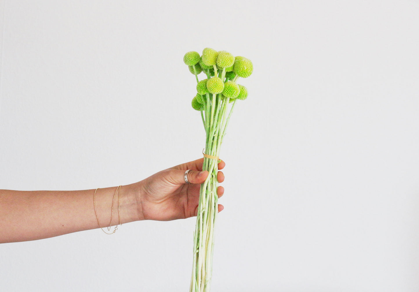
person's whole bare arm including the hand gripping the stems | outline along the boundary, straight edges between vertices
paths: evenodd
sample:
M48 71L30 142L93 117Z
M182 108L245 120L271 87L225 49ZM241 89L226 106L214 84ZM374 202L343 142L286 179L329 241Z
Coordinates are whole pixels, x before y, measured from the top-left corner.
M137 220L175 220L194 216L198 206L199 184L208 172L202 170L203 159L165 169L133 184L121 187L119 210L121 223ZM221 161L218 168L225 163ZM191 184L184 181L186 169ZM201 175L199 176L199 174ZM222 182L224 175L218 174ZM79 191L16 191L0 190L0 222L3 223L0 243L30 241L67 233L109 226L112 199L116 187L96 192L95 210L92 190ZM224 192L218 187L220 197ZM115 196L112 225L119 224L118 195ZM219 205L219 210L222 210ZM106 229L105 229L106 230Z

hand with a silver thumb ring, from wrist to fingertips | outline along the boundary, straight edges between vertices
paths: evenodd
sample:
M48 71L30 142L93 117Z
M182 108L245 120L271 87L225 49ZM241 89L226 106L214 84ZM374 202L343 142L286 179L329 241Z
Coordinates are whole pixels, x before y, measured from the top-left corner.
M196 216L198 212L199 189L208 177L208 172L202 172L204 158L190 161L169 169L162 170L138 182L136 197L139 214L143 220L168 221ZM220 161L218 169L223 169L224 161ZM188 181L184 174L187 169ZM218 182L224 181L224 174L218 172ZM221 197L224 188L217 188L217 195ZM218 205L218 212L224 209Z

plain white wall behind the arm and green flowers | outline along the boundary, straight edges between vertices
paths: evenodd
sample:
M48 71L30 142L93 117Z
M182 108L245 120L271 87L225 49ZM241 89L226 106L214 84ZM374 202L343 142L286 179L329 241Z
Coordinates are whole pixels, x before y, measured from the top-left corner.
M220 155L212 291L419 291L418 1L0 9L0 188L117 186L198 159L183 56L227 50L254 72ZM2 244L0 290L188 291L194 225Z

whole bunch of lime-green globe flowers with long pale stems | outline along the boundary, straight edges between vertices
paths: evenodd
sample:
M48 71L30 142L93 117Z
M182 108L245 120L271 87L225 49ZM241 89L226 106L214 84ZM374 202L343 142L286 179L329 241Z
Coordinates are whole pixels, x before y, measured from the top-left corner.
M192 108L201 112L206 133L202 170L209 172L200 189L189 291L209 292L214 227L218 213L217 173L220 146L237 100L245 100L247 97L246 87L235 81L238 77L250 76L253 64L247 58L234 57L226 51L217 52L211 48L205 48L202 56L196 51L186 53L184 62L197 79L197 95L192 99ZM198 75L202 72L207 78L199 81Z

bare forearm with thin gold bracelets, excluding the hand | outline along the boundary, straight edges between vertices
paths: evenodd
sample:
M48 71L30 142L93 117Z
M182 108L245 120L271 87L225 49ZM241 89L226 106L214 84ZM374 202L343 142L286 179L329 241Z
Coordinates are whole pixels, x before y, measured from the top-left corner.
M109 226L116 187L98 189L95 203L102 227ZM30 241L99 228L93 207L95 190L15 191L0 190L0 243ZM112 225L119 224L116 193ZM121 223L140 220L134 184L121 187ZM107 229L105 228L106 232Z

